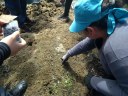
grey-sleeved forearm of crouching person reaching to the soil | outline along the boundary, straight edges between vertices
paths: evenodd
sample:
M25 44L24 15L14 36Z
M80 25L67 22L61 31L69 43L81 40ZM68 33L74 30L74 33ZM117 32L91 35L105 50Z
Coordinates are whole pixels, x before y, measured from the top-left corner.
M74 56L92 50L94 48L95 48L94 40L87 37L78 44L76 44L74 47L69 49L67 54L70 56Z

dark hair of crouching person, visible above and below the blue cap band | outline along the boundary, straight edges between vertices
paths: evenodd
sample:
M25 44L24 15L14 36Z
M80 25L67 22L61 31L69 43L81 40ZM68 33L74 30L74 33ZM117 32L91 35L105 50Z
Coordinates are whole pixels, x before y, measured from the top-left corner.
M104 2L106 3L106 0L104 0L103 3ZM117 1L115 1L115 4L107 4L106 6L102 4L102 11L107 10L108 8L109 9L120 8L122 6L123 6L122 1L117 0ZM106 15L102 19L91 23L90 26L97 27L101 30L107 30L107 18L108 18L108 16Z

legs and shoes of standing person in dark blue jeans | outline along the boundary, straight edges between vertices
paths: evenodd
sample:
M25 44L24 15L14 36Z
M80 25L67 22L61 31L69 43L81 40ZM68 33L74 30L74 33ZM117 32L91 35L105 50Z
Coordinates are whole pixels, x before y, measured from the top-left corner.
M27 25L33 25L34 20L30 20L26 14L27 0L4 0L5 6L9 10L11 15L18 16L17 20L19 27L25 31L30 32L30 28Z

